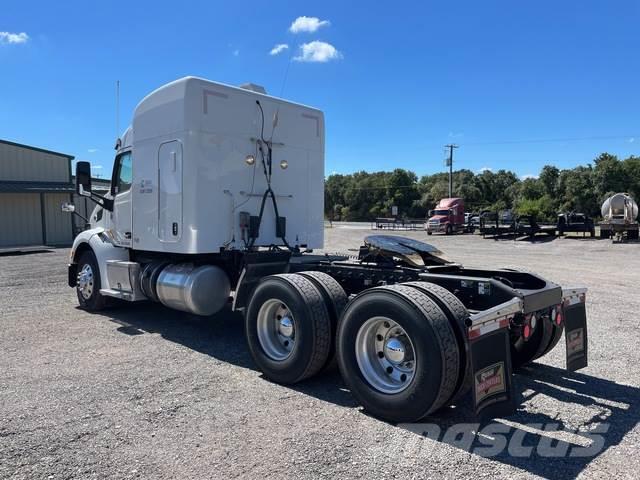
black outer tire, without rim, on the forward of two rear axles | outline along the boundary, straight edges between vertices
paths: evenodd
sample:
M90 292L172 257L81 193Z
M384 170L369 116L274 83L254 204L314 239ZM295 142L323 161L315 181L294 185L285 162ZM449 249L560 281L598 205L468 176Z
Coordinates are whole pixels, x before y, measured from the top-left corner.
M270 357L258 336L258 314L265 302L277 300L295 321L295 343L281 360ZM283 384L297 383L318 373L331 349L331 320L327 305L311 280L296 274L263 278L254 290L245 315L249 351L264 375Z

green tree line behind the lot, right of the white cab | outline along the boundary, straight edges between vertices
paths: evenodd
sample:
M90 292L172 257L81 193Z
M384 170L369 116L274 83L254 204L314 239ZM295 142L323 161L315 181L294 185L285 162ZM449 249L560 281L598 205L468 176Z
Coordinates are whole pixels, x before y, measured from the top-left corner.
M624 160L602 153L591 164L572 169L553 165L536 178L519 178L514 172L471 170L453 172L453 196L465 201L466 211L514 210L553 221L559 212L600 214L611 194L627 192L640 200L640 157ZM392 172L334 174L325 180L325 215L331 220L364 221L398 216L425 218L441 198L448 197L449 174L418 176L397 168Z

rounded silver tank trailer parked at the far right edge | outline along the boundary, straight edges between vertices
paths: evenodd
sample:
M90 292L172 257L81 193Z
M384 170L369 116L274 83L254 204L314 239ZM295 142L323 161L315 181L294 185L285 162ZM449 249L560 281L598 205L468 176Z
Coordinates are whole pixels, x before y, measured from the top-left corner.
M600 212L600 238L638 239L638 204L631 195L616 193L610 196L602 203Z

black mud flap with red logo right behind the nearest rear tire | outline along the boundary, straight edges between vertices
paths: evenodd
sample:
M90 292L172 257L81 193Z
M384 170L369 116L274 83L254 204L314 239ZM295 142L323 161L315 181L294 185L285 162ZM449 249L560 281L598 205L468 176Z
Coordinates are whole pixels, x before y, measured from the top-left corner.
M514 298L469 319L471 394L475 413L481 419L515 412L509 324L521 310L522 302Z

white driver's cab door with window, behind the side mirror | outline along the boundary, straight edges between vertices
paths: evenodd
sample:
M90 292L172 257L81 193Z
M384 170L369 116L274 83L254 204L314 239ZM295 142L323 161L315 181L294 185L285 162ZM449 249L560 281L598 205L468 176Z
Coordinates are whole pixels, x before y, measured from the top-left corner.
M113 238L117 245L131 246L131 182L132 182L131 152L121 153L116 157L111 179L111 194L113 195Z

